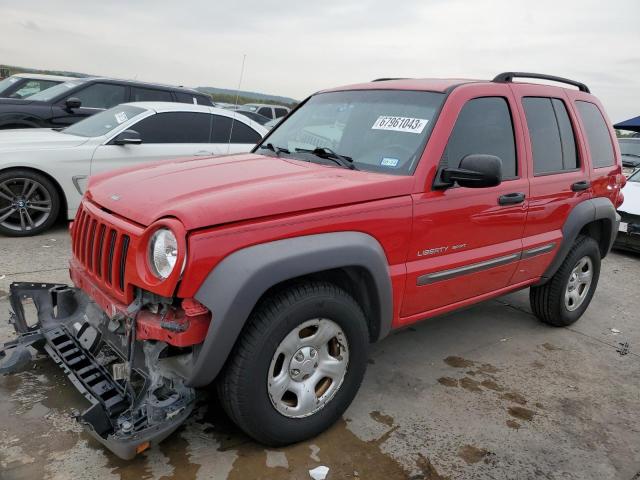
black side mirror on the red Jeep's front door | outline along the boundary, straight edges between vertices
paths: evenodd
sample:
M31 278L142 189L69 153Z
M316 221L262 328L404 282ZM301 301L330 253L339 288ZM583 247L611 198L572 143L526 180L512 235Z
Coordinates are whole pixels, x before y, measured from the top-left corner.
M442 182L461 187L495 187L502 181L502 160L494 155L467 155L459 168L445 168L440 174Z

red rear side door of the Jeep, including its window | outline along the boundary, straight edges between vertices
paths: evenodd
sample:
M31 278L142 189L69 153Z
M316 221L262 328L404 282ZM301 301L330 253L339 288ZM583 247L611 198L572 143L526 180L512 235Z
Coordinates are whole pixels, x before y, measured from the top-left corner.
M531 190L514 282L541 276L560 248L569 212L592 196L578 121L564 89L512 84L525 125Z

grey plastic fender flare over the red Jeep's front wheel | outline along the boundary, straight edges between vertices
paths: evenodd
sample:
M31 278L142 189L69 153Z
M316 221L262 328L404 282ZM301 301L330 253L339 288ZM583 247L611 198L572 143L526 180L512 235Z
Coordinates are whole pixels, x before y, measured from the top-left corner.
M333 232L277 240L238 250L207 276L195 298L213 318L188 380L204 386L218 375L251 311L269 288L326 270L361 267L375 285L382 338L391 330L393 292L387 257L380 243L361 232Z

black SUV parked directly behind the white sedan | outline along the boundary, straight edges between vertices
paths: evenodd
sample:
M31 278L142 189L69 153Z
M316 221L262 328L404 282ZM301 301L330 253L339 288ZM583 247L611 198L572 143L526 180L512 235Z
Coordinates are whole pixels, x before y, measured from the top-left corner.
M0 129L66 127L126 102L213 105L211 97L188 88L108 78L79 78L24 100L0 98Z

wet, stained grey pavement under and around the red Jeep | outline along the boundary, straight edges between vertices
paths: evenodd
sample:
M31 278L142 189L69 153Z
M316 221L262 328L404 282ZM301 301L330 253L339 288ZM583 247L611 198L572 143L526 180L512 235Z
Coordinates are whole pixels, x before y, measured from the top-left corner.
M0 341L12 281L67 282L64 227L0 238ZM619 330L614 333L611 329ZM630 351L621 355L620 343ZM73 419L85 400L51 360L0 377L0 479L624 479L640 472L640 256L615 252L567 329L540 324L528 292L410 327L373 346L343 419L269 449L203 391L159 448L125 462Z

